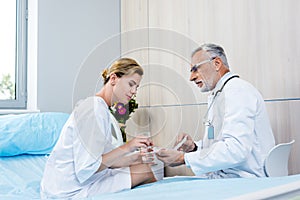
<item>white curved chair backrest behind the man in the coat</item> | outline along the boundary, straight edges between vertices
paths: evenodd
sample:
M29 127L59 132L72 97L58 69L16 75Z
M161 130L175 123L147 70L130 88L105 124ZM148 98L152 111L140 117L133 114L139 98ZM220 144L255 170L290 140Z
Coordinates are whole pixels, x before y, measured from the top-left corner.
M274 146L268 153L264 170L268 177L287 176L291 147L295 140Z

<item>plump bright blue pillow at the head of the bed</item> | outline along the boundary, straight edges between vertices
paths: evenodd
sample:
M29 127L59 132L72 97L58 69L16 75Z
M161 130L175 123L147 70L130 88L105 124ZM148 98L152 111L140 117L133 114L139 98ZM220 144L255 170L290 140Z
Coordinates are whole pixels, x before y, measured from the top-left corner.
M0 156L50 153L69 114L0 115Z

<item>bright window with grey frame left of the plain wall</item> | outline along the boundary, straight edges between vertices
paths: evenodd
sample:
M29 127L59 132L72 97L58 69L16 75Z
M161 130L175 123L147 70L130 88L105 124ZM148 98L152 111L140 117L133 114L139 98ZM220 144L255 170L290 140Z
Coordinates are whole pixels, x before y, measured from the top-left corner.
M27 0L0 1L0 109L27 102Z

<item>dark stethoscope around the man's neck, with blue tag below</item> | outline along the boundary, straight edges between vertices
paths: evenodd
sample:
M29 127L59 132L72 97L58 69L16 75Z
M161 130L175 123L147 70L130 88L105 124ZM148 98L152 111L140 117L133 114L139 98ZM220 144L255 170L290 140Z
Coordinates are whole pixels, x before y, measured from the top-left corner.
M209 107L203 117L203 124L207 127L207 139L209 139L209 140L214 139L214 126L212 125L212 121L207 119L208 112L210 111L212 105L214 104L217 95L223 91L223 88L228 83L228 81L230 81L233 78L239 78L239 76L238 75L231 76L224 82L222 87L216 91L216 93L214 94L213 99L211 101L211 104L209 105Z

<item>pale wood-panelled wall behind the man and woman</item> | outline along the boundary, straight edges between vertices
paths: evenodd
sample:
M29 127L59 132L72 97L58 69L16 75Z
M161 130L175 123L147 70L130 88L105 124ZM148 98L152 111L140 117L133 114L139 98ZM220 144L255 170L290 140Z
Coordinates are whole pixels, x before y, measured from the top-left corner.
M146 74L137 99L148 115L141 112L137 116L149 122L149 130L157 130L157 122L165 118L164 128L156 134L158 144L165 145L178 132L171 124L193 131L190 121L176 117L179 108L184 108L187 119L203 117L206 94L188 81L186 66L195 44L213 42L224 47L231 70L257 87L267 100L276 142L296 140L289 170L290 174L300 173L300 123L296 121L300 113L300 1L126 0L121 4L122 31L148 29L138 36L123 37L122 52L134 49L139 54L135 45L143 47L138 57ZM152 37L153 29L162 34ZM166 38L163 33L167 31L173 33ZM184 36L187 44L178 35ZM145 41L148 49L141 44ZM168 42L171 45L165 48ZM152 48L160 45L162 48ZM128 129L134 130L130 123ZM190 175L183 167L169 170L169 175L176 171Z

